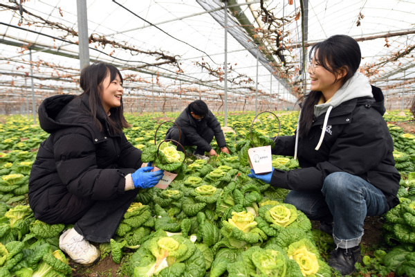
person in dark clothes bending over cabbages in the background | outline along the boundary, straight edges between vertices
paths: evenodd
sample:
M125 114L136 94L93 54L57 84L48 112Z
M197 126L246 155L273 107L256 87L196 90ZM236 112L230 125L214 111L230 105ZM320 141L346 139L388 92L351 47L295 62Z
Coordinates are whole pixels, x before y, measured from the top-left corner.
M210 146L213 136L219 148L221 148L221 152L229 154L221 124L202 100L191 102L174 123L180 127L180 141L178 141L179 131L176 125L167 130L165 139L173 139L183 146L196 145L196 151L193 154L197 159L208 160L209 158L204 156L205 152L208 152L210 156L217 155L216 151ZM183 151L180 146L177 149Z

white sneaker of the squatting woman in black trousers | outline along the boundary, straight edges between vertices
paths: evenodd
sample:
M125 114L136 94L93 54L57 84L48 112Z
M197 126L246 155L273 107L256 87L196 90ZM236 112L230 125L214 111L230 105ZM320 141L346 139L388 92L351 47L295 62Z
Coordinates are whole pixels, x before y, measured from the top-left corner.
M82 265L93 264L100 258L100 251L73 228L64 231L59 237L59 248L74 262Z

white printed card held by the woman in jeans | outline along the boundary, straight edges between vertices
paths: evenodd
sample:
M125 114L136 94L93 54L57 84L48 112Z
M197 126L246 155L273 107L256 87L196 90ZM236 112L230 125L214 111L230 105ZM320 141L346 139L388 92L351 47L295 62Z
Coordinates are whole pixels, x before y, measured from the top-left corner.
M271 145L248 149L248 161L255 174L266 174L273 171Z

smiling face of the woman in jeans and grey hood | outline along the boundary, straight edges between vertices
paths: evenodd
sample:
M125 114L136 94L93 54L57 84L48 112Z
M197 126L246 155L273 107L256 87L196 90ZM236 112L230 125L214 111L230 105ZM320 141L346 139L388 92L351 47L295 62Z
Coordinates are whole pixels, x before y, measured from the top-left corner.
M334 93L342 87L341 78L344 76L345 72L341 72L337 76L334 73L331 73L325 69L320 61L318 60L318 49L311 60L312 64L315 64L315 71L311 68L308 68L308 73L311 78L311 90L312 91L321 91L324 98L329 100L333 97Z

